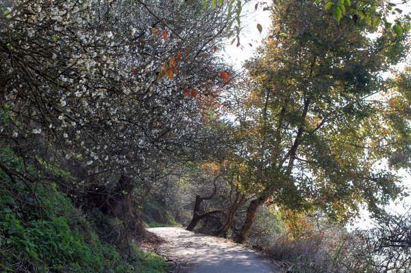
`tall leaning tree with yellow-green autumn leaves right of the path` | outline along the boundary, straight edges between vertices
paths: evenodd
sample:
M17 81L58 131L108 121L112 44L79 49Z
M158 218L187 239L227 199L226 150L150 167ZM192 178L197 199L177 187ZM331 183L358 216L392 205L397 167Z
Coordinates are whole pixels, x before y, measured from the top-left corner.
M408 162L409 96L383 75L406 57L408 34L352 16L336 22L329 12L312 1L276 1L269 38L246 64L234 112L243 183L258 197L236 242L245 242L268 198L346 221L363 204L377 211L401 194L400 178L378 165Z

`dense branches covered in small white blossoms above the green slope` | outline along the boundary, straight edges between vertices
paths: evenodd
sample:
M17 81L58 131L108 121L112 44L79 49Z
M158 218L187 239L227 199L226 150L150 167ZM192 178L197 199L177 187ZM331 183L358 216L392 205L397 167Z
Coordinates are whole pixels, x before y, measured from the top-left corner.
M223 69L218 56L203 51L197 55L200 65L185 64L183 58L195 57L195 49L211 48L221 40L226 15L220 9L197 14L188 5L160 1L164 10L151 8L173 15L168 20L181 38L138 1L112 1L107 12L108 6L99 1L45 5L13 0L21 13L0 21L1 43L12 43L12 53L24 57L17 63L12 54L0 52L0 83L7 83L0 84L2 98L21 112L16 118L21 124L8 136L17 138L18 131L33 143L49 145L62 159L69 155L67 160L93 164L89 168L129 172L131 177L157 171L154 161L171 164L169 157L184 151L203 125L199 100L184 96L184 90L212 90L218 81L199 75L214 77ZM115 24L108 23L114 18ZM222 28L220 36L204 39L217 27ZM192 39L190 29L198 29L198 40ZM204 45L205 40L209 44ZM184 52L188 47L192 52ZM178 51L184 56L175 59L177 70L169 81L160 68Z

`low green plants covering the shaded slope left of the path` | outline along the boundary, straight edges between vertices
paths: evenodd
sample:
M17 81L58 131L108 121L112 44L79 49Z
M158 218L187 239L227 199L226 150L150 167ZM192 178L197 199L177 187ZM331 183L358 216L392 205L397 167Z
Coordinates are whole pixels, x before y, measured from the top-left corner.
M1 148L8 170L22 168L10 148ZM54 187L10 178L0 170L0 271L164 272L166 261L135 244L134 260L103 243L90 224Z

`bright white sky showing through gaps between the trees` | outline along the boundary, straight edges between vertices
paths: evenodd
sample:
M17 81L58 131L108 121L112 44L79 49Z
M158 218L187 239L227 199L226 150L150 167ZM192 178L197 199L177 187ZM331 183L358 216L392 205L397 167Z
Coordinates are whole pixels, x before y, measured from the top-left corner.
M397 2L400 2L399 0ZM242 10L246 14L241 20L242 32L240 36L240 43L242 47L236 47L236 42L233 44L227 44L225 47L225 56L230 63L234 65L234 68L241 68L242 63L245 60L253 56L258 46L262 44L262 40L268 34L268 29L271 24L270 11L264 11L262 5L259 3L258 9L255 9L255 5L258 1L250 1ZM411 3L406 5L397 5L397 8L403 10L403 14L411 13ZM262 33L257 29L257 24L262 25ZM251 46L251 45L252 46ZM408 58L408 65L411 65L411 58ZM405 63L400 64L399 67L403 67ZM408 192L411 195L411 175L406 170L400 170L397 174L403 177L403 185L408 187ZM393 213L405 213L406 208L404 206L411 206L411 196L404 198L402 201L397 200L392 202L385 209ZM366 229L372 226L372 220L369 218L369 213L365 209L362 210L361 218L357 219L352 228Z

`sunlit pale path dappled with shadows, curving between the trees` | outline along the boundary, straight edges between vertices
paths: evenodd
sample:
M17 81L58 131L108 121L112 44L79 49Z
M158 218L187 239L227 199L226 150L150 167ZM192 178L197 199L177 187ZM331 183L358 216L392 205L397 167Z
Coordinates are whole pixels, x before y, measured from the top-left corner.
M148 229L166 240L160 254L181 263L175 272L191 273L272 273L269 259L227 239L192 233L182 228ZM278 271L279 272L279 271Z

